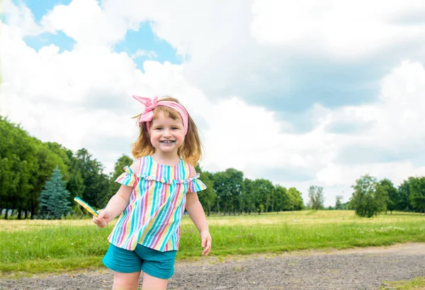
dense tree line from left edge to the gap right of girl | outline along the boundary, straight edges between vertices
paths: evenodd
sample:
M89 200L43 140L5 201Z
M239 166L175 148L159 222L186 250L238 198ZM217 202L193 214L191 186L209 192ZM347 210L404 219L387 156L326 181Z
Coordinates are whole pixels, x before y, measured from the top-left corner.
M74 152L55 142L42 142L0 116L0 212L4 219L10 214L17 214L18 219L81 214L74 197L103 208L120 187L115 179L132 162L123 155L115 162L113 173L105 174L103 165L86 149ZM196 169L208 187L199 193L208 214L304 209L301 192L294 187L250 180L233 168L217 173Z

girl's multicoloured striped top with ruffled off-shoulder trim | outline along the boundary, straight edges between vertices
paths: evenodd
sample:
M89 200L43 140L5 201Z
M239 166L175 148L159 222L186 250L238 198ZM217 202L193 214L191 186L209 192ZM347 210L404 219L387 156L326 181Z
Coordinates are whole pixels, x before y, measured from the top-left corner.
M178 250L186 192L207 188L198 179L199 173L189 178L190 167L185 161L166 166L152 156L140 158L139 173L128 166L124 171L115 182L135 188L109 242L126 250L135 250L138 243L162 252Z

